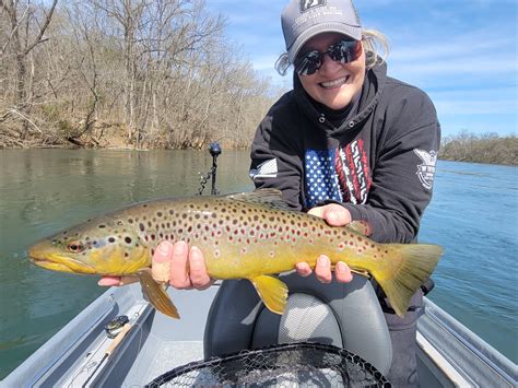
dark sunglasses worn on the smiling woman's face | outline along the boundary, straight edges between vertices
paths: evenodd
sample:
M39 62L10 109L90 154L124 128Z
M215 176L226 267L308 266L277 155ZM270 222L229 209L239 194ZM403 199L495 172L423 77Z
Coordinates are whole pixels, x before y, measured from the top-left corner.
M313 50L304 54L295 59L293 66L299 75L311 75L322 66L323 56L327 54L333 61L342 64L350 63L360 57L358 40L340 40L329 46L329 48L320 52Z

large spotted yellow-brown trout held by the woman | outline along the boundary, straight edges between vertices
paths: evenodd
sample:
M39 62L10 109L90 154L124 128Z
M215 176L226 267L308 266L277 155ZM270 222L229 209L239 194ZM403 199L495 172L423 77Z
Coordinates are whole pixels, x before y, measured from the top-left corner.
M375 243L361 222L329 226L320 217L291 210L281 191L258 189L136 203L44 238L28 248L28 256L52 271L134 274L158 311L179 318L163 284L151 277L152 256L162 240L196 245L211 278L249 280L275 314L284 311L289 295L275 274L303 261L315 268L317 258L327 255L331 266L344 261L352 271L373 277L403 316L443 255L437 245Z

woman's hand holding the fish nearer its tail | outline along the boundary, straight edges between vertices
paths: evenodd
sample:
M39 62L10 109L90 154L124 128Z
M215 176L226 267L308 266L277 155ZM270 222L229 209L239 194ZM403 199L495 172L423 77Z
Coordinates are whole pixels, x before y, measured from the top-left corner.
M351 213L338 203L329 203L323 207L313 208L307 213L322 217L331 226L345 226L351 223ZM309 277L313 272L307 262L299 262L295 268L301 277ZM331 283L331 260L329 260L327 256L321 255L317 259L315 275L322 283ZM334 277L337 278L337 281L341 283L349 283L353 280L351 269L343 261L337 262L334 267Z

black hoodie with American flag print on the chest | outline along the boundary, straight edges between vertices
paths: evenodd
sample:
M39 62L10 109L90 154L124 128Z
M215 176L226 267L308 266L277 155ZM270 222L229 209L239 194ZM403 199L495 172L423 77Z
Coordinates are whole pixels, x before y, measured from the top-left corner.
M440 126L428 96L367 71L362 93L345 114L328 117L294 77L259 125L250 177L276 188L297 210L330 201L367 221L379 243L410 243L432 198Z

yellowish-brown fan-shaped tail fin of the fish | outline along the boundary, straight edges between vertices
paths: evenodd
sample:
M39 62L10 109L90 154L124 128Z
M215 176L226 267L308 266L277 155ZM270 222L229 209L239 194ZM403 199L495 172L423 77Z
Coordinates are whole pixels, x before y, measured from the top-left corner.
M437 266L443 248L425 244L387 244L380 247L389 252L389 266L372 272L396 314L402 317L412 296Z

